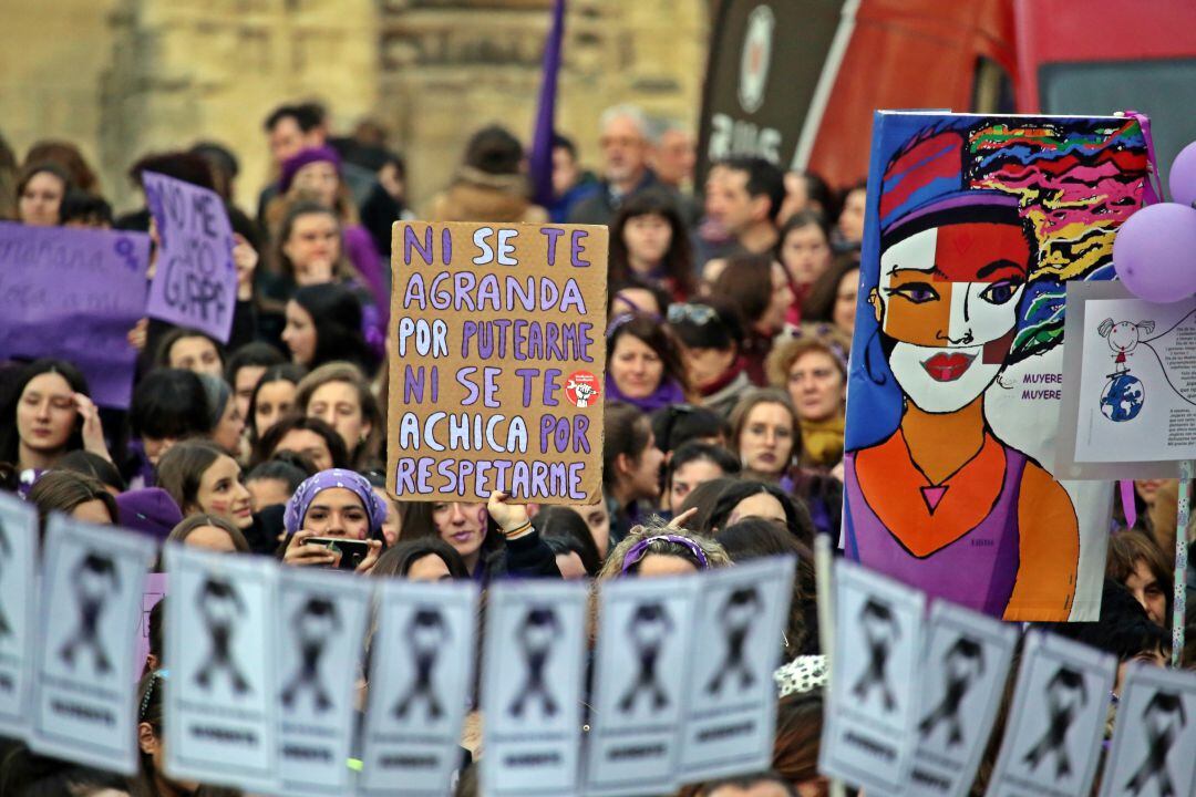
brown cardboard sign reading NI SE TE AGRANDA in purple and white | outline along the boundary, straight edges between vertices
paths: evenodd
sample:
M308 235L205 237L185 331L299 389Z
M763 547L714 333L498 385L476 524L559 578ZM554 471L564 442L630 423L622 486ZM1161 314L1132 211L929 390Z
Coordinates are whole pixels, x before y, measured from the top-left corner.
M392 268L390 491L596 503L606 228L397 222Z

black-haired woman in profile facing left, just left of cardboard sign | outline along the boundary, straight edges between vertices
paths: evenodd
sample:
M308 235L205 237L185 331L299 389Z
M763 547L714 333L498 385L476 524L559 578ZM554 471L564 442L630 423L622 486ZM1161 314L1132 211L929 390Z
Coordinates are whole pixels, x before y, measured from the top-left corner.
M373 375L378 356L361 333L361 304L348 288L303 286L287 302L286 318L282 342L295 364L313 369L344 360Z

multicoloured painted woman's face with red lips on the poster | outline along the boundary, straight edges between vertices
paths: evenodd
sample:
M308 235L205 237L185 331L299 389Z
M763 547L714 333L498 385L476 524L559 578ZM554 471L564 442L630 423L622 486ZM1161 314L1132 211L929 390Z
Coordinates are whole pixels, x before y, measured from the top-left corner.
M927 229L880 256L871 300L895 342L889 367L915 406L954 412L993 384L1009 354L1030 244L1021 228Z

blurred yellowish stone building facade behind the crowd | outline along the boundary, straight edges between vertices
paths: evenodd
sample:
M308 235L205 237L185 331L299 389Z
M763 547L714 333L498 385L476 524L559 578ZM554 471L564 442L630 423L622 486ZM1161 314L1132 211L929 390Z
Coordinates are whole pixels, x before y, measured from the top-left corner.
M469 134L530 135L551 0L0 0L0 131L18 151L80 142L118 208L140 155L201 139L242 160L240 203L269 179L261 124L317 99L337 131L373 117L409 155L415 207ZM696 124L706 0L570 0L557 125L597 160L614 103Z

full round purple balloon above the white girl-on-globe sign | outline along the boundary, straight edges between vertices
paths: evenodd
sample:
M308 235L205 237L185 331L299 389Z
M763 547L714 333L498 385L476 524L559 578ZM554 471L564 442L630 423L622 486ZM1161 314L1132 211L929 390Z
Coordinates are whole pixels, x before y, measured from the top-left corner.
M1158 304L1196 293L1196 209L1173 202L1142 208L1113 238L1113 268L1135 296Z

